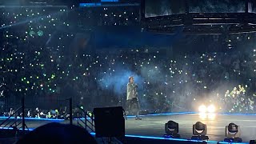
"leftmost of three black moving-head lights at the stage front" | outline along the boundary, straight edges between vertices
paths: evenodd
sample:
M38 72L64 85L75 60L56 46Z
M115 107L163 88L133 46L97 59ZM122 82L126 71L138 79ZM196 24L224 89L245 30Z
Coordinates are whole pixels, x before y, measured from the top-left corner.
M166 134L165 138L181 138L178 134L178 123L174 121L168 121L165 125Z

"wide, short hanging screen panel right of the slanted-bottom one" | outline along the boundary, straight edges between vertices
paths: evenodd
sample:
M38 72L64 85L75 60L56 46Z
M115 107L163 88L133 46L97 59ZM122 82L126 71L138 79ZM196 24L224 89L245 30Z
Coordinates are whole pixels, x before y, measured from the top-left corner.
M244 13L246 0L188 0L190 13Z

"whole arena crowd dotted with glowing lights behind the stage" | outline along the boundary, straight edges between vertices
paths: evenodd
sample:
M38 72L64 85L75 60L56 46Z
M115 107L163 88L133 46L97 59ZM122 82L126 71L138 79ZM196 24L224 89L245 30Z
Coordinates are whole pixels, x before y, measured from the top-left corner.
M115 14L114 7L101 8L106 11L104 25L138 21L132 9L116 9ZM125 106L130 74L138 82L142 110L194 111L193 105L204 98L218 104L220 111L254 113L253 47L193 54L145 47L88 52L70 46L75 33L66 31L71 25L66 8L49 9L0 9L2 115L11 114L22 96L26 115L33 118L66 118L66 110L60 107L67 106L64 101L70 97L74 107L85 110ZM82 45L90 47L86 42Z

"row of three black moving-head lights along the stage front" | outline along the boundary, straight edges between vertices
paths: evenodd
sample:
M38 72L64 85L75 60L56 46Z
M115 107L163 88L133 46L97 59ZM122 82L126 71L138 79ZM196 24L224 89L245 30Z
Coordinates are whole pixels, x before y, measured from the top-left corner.
M166 134L164 135L165 138L181 138L180 134L178 134L178 123L174 121L169 121L165 125ZM208 141L209 137L207 134L207 126L202 122L196 122L193 125L193 136L191 137L192 140L198 141ZM230 123L225 128L226 138L224 142L242 142L241 130L240 126ZM251 141L252 142L252 141ZM251 143L250 142L250 143Z

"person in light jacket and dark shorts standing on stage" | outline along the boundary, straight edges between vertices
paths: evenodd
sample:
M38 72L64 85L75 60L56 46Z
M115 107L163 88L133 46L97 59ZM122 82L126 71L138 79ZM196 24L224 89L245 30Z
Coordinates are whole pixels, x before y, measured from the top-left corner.
M127 84L127 98L126 98L126 109L131 112L134 111L136 113L136 120L142 120L142 118L138 117L138 85L134 83L134 77L129 77L129 82Z

